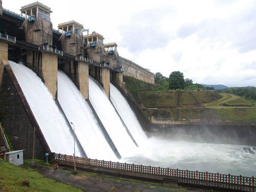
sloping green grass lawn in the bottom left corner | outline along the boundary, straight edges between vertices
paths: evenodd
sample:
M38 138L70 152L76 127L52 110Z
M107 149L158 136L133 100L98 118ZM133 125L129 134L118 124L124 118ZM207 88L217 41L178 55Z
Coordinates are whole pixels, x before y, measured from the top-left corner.
M30 187L23 186L23 181L29 180ZM0 191L82 191L70 185L60 183L53 179L44 178L31 168L15 166L0 159Z

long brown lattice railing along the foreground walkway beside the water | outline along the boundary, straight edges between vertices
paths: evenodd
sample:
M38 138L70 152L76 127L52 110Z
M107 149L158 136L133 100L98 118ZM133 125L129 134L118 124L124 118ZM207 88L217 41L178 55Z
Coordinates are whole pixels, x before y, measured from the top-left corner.
M73 165L74 157L69 155L55 154L53 153L54 160L65 162L65 164ZM128 163L119 163L112 161L104 161L83 157L75 157L77 166L80 165L91 165L109 169L124 170L125 172L134 172L141 173L146 175L170 177L170 178L181 178L181 179L190 179L197 181L207 181L215 182L221 184L234 184L244 187L253 187L255 188L256 179L254 177L244 177L244 176L234 176L226 175L219 173L208 173L208 172L198 172L190 170L180 170L172 168L161 168L154 166L144 166Z

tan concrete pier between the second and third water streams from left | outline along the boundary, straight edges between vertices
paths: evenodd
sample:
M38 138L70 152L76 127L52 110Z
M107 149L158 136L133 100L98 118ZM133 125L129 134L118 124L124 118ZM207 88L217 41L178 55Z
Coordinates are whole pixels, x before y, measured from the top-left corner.
M84 99L88 99L89 92L89 63L78 61L77 66L77 87Z

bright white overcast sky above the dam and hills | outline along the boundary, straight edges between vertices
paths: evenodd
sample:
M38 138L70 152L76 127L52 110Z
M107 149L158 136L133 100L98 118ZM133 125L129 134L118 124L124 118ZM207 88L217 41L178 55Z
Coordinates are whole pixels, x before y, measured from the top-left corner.
M20 13L31 0L2 0ZM256 1L53 1L53 28L76 20L151 72L205 84L256 86Z

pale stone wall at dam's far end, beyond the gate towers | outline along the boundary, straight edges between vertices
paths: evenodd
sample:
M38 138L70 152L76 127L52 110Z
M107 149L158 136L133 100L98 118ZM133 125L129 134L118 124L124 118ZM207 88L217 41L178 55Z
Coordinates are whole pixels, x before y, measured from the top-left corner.
M121 58L123 75L136 78L138 80L154 84L155 83L155 74L140 67L135 62L132 62L123 57Z

